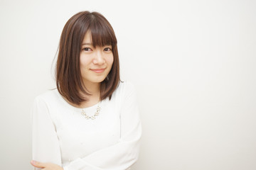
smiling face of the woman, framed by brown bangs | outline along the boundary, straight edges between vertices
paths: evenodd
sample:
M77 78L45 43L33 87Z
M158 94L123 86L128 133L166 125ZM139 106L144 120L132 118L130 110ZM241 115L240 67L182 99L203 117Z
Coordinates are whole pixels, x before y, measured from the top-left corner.
M80 52L80 69L85 86L102 82L109 74L113 60L112 45L93 47L91 34L88 31L82 41Z

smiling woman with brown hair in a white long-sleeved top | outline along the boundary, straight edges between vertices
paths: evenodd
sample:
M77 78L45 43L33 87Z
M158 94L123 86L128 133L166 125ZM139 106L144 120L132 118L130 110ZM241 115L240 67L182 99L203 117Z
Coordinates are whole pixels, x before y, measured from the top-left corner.
M33 105L33 161L38 169L129 169L141 123L134 87L119 80L117 39L97 12L71 17L60 37L57 89Z

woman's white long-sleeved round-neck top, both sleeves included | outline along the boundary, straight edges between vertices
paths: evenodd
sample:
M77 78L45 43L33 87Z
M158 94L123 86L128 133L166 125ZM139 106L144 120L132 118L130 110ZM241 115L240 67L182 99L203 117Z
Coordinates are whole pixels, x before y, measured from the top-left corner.
M134 86L120 82L111 100L84 108L82 116L58 93L36 97L32 110L33 160L51 162L65 170L124 170L139 156L142 135Z

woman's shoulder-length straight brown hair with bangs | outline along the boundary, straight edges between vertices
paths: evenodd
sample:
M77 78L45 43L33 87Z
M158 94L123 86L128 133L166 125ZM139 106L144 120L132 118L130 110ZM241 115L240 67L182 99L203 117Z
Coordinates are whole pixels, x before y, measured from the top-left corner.
M82 82L80 71L82 40L87 31L91 33L94 47L112 45L114 61L110 73L100 83L100 100L107 97L111 99L120 80L117 38L110 23L97 12L83 11L75 14L65 24L60 36L55 78L59 93L70 103L77 105L82 101L87 101L82 94L90 95L90 91L87 91Z

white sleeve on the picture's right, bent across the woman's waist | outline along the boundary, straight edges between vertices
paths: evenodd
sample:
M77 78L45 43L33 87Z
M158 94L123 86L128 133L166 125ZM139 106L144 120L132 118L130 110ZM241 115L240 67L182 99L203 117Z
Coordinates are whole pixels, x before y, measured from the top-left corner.
M64 170L125 170L137 161L142 126L134 87L132 84L128 85L120 113L121 137L119 142L93 152L87 157L75 159L68 166L64 166Z

